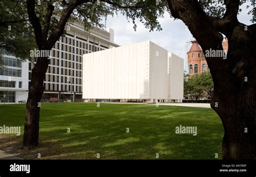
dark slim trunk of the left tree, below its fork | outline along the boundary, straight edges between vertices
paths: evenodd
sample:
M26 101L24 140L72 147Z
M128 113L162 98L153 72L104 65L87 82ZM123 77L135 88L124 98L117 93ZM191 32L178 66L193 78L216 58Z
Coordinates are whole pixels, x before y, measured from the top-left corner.
M38 146L39 114L44 91L44 77L48 64L48 58L38 58L35 67L32 69L29 97L26 102L23 149L31 149Z

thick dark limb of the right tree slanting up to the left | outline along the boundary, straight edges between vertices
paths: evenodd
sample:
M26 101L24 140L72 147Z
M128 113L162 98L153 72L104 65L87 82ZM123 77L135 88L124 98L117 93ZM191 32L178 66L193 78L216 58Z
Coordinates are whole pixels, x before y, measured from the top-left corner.
M223 36L215 28L215 25L219 29L224 28L223 24L226 23L225 21L218 18L209 18L198 1L168 0L167 2L172 16L181 19L188 26L188 29L197 39L204 52L210 51L210 49L223 51ZM221 31L224 31L224 29ZM213 79L221 78L221 74L226 72L226 60L221 57L206 57L206 60L211 73L215 73ZM219 70L222 72L219 72Z

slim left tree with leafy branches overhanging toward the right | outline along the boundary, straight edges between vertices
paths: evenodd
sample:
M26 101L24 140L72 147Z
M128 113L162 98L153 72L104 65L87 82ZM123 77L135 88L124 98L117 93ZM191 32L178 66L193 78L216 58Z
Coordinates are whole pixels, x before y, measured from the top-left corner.
M157 21L167 9L166 1L107 1L107 0L26 0L29 22L32 25L39 50L51 50L57 40L65 33L65 25L81 21L86 31L93 26L102 28L101 19L118 11L131 19L136 29L135 19L144 23L150 31L161 30ZM31 85L26 103L23 148L38 146L40 102L43 94L44 76L49 60L37 57L31 71Z

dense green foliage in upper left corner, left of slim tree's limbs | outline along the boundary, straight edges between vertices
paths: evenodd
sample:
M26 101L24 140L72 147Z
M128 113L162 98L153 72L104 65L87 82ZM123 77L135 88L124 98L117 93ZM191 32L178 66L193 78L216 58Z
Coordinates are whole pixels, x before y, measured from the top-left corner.
M30 50L36 44L26 13L26 3L4 0L0 1L0 7L0 48L19 59L32 59Z

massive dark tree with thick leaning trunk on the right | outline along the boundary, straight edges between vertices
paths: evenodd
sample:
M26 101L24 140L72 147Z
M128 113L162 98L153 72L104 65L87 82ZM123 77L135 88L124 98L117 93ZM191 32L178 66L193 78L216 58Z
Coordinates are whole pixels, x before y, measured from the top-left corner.
M214 83L211 107L225 131L223 159L256 158L256 24L238 21L244 2L167 0L172 16L188 26L204 53L223 52L223 35L228 38L227 58L206 56ZM254 23L255 2L251 5Z

